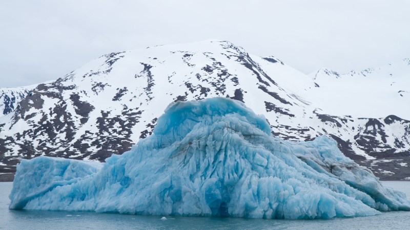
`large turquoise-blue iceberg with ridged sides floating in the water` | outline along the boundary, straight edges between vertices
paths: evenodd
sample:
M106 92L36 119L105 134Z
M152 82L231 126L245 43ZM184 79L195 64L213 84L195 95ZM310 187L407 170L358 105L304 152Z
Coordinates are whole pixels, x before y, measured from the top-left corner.
M271 131L231 99L172 103L151 136L101 166L22 160L9 208L285 219L410 210L333 139L289 142Z

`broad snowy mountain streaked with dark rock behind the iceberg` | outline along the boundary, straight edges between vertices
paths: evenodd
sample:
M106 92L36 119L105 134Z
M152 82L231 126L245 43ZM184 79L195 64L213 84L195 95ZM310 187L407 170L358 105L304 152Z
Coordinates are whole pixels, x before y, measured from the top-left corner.
M170 102L228 97L263 114L273 133L285 140L327 134L346 156L373 167L377 176L410 177L403 170L410 163L410 122L397 115L330 115L328 107L317 105L320 97L331 97L320 91L326 89L322 77L318 73L312 79L275 57L250 55L228 41L111 53L37 85L1 117L0 162L10 166L39 155L104 160L150 135ZM408 84L401 86L409 90ZM410 97L399 97L402 101L390 103L405 107Z

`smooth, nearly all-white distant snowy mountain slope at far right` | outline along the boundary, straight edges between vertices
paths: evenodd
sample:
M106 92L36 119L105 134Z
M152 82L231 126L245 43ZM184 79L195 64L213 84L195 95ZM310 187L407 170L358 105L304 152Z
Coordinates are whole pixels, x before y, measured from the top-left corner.
M338 74L321 68L310 75L317 87L301 92L315 106L333 115L410 120L410 59L364 71ZM326 95L324 98L323 95Z

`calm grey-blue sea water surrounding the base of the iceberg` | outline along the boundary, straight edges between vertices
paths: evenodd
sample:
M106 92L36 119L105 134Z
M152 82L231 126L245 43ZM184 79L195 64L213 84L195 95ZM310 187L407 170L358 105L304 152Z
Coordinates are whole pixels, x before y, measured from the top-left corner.
M410 197L410 182L384 181ZM137 216L86 212L9 210L12 182L0 182L0 229L409 229L410 212L330 220L264 220Z

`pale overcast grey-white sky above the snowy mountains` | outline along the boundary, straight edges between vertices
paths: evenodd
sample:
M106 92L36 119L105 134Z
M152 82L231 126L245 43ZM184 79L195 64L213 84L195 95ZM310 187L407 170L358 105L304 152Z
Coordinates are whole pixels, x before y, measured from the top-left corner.
M299 71L410 58L410 1L1 1L0 87L57 79L103 54L229 40Z

